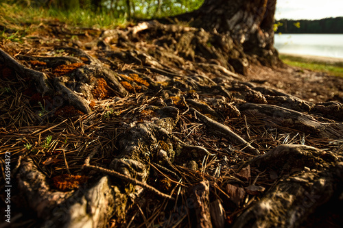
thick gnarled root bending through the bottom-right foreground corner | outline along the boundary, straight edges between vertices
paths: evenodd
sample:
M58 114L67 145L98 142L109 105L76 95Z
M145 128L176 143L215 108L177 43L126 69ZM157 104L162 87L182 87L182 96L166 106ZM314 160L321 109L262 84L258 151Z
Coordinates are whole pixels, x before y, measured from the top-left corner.
M256 157L251 166L276 170L282 178L234 227L298 227L342 191L343 164L335 160L333 154L303 145L279 146Z

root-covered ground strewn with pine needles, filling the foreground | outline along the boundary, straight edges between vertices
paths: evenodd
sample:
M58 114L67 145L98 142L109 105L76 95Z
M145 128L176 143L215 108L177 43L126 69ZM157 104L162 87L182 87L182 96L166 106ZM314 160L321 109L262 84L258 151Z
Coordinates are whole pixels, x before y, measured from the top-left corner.
M340 200L343 78L156 22L0 42L14 227L311 227Z

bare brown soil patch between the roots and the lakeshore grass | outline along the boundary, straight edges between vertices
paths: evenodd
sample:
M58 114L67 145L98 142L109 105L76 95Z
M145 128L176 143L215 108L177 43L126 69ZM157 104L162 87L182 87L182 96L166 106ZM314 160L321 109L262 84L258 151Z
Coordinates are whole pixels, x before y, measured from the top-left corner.
M268 68L251 66L244 81L292 94L305 101L325 102L343 99L343 78L294 66Z

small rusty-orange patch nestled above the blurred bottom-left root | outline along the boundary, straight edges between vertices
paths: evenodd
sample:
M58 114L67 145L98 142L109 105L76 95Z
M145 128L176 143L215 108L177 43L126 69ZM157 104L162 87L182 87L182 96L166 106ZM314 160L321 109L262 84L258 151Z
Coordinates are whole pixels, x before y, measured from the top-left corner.
M60 191L69 191L78 188L83 183L86 183L89 177L80 175L63 174L52 178L52 183L55 188Z

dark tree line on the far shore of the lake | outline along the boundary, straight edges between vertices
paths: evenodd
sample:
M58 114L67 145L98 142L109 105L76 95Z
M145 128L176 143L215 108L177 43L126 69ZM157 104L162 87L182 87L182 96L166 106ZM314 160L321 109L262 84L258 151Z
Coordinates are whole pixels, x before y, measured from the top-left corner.
M276 25L276 32L282 34L343 34L342 16L314 21L281 19Z

